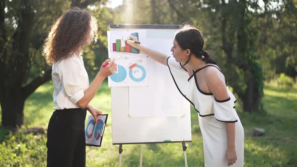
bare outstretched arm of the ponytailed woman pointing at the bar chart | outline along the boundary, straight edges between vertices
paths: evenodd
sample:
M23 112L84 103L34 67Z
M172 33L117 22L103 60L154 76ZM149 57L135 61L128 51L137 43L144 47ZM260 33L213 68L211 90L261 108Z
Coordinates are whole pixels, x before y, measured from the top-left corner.
M132 35L130 35L129 39L133 40L133 41L138 41L137 38L132 36ZM141 52L143 52L144 54L150 56L151 58L158 61L159 63L164 64L164 65L167 66L167 58L168 58L167 55L165 55L165 54L163 54L161 52L158 52L156 50L146 48L146 47L144 47L143 45L140 45L140 44L135 44L135 43L132 43L132 42L129 42L129 41L127 41L127 43L129 45L131 45L132 47L134 47L136 49L139 49Z

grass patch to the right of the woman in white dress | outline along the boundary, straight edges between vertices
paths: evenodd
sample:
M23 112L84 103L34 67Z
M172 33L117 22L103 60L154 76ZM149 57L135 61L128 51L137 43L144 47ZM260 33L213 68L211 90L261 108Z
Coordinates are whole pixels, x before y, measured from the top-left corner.
M240 113L245 128L245 166L297 166L297 89L266 84L265 113ZM252 128L266 130L252 137Z

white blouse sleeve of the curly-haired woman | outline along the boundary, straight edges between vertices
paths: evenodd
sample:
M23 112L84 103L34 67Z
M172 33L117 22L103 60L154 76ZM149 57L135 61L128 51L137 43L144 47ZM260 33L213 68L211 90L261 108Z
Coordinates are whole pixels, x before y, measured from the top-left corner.
M60 63L59 76L64 86L67 96L77 104L84 97L84 82L80 74L82 64L75 58L67 58Z

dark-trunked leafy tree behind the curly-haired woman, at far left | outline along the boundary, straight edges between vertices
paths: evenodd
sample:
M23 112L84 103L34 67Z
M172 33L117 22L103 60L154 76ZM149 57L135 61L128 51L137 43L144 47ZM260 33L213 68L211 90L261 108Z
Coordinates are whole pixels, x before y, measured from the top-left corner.
M3 79L0 82L0 103L3 126L16 128L22 125L25 100L51 79L51 68L41 56L43 39L50 26L69 7L87 8L95 2L97 5L100 3L95 0L0 2L0 77Z

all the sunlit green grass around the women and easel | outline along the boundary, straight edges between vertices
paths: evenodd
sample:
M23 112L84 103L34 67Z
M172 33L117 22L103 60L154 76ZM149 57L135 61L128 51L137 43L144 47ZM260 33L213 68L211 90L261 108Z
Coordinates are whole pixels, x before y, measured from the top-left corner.
M0 166L45 166L46 135L25 134L27 128L47 128L53 112L52 83L39 87L25 103L25 123L15 134L0 126ZM297 89L266 84L263 113L243 113L237 106L245 129L245 166L297 166ZM102 147L87 147L87 166L117 166L118 145L112 145L110 89L104 82L93 106L110 114ZM240 103L239 103L240 104ZM189 166L203 166L202 136L197 113L191 110L192 142L187 143ZM254 127L266 133L253 137ZM184 166L181 143L142 144L143 166ZM123 145L122 166L139 166L140 144Z

